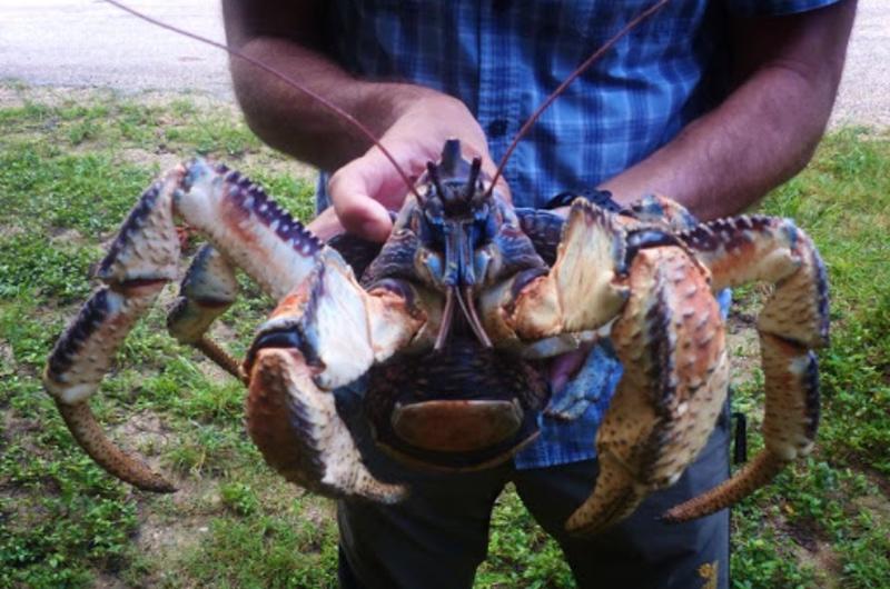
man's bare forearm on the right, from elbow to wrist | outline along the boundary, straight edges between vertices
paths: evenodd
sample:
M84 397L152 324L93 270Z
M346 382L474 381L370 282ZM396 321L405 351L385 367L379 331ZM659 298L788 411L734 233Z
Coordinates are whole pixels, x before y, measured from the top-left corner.
M702 219L738 213L807 163L830 111L831 100L813 100L810 84L795 73L758 72L716 110L603 188L624 202L663 193Z

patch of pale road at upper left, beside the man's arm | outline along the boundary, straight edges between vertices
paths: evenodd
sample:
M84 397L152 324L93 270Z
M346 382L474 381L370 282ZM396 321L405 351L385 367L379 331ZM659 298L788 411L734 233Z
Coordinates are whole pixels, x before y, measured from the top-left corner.
M219 0L125 0L222 40ZM99 0L0 0L0 79L123 91L198 90L231 98L219 49L158 29Z

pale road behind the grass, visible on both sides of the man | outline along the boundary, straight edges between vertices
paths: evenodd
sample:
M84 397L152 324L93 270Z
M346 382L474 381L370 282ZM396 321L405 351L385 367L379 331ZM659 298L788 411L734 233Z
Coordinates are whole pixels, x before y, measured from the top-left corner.
M222 39L219 0L129 0ZM198 90L231 99L227 58L99 0L0 0L0 79L125 91ZM890 0L860 0L835 122L890 127Z

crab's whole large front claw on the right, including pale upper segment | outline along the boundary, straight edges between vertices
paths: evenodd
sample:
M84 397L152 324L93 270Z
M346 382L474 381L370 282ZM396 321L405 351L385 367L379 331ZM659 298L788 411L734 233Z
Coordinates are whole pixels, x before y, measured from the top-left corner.
M617 318L611 333L626 368L597 438L596 488L570 519L571 531L611 526L675 481L725 399L719 307L706 271L679 246L629 238L625 223L575 201L548 274L502 288L501 312L485 312L493 330L521 339L599 329Z

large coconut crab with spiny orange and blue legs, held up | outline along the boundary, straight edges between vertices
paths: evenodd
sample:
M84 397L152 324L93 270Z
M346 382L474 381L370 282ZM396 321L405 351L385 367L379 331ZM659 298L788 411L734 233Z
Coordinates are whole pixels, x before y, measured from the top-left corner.
M791 221L694 223L655 197L619 212L578 198L563 221L513 209L490 182L479 160L464 160L459 142L448 141L388 241L363 253L354 239L320 242L225 166L178 166L123 222L99 268L106 286L49 358L47 390L106 470L141 489L172 490L105 437L88 398L134 322L177 277L178 216L211 246L186 273L169 331L245 381L250 436L271 467L309 490L383 502L407 491L363 465L333 389L370 371L366 407L379 445L414 465L484 468L535 435L547 389L528 360L599 332L633 369L597 435L600 478L567 527L611 526L674 482L705 443L729 372L713 292L752 280L775 284L758 320L765 449L665 517L726 507L810 451L819 418L812 350L828 339L828 297L818 252ZM277 301L240 365L206 336L235 301L236 268Z

